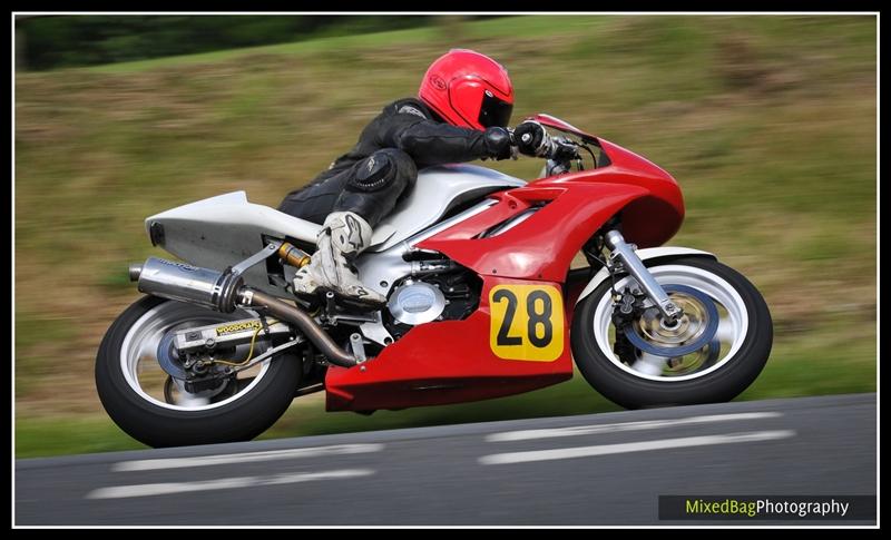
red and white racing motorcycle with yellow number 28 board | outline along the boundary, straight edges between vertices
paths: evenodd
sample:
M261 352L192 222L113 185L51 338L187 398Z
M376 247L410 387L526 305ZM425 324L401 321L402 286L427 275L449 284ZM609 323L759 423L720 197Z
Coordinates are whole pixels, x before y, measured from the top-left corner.
M771 352L758 291L711 253L667 247L675 179L548 115L541 177L422 169L355 261L368 305L296 294L320 226L244 192L146 219L129 268L146 293L108 328L96 385L150 446L249 440L295 397L327 411L400 410L586 381L628 408L724 402ZM577 254L587 266L570 269Z

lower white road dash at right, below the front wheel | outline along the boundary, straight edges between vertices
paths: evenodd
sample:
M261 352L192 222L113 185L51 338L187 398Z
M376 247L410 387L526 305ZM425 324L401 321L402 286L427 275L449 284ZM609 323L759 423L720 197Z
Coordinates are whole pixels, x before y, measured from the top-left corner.
M791 430L752 431L747 433L728 433L724 435L685 436L681 439L662 439L657 441L628 442L620 444L601 444L598 446L577 446L531 452L509 452L483 455L479 459L483 465L502 465L507 463L526 463L529 461L566 460L570 458L589 458L593 455L624 454L646 452L648 450L666 450L686 446L707 446L711 444L734 444L738 442L773 441L795 436Z

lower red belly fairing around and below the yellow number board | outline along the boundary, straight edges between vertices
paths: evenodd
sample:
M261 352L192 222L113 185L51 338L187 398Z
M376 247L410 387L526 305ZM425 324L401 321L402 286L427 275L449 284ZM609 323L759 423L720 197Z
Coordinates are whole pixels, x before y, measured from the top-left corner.
M572 376L569 327L562 352L550 362L505 360L489 346L489 292L503 284L559 285L487 276L479 308L463 321L412 328L362 366L330 366L325 375L329 411L403 409L500 397L557 384Z

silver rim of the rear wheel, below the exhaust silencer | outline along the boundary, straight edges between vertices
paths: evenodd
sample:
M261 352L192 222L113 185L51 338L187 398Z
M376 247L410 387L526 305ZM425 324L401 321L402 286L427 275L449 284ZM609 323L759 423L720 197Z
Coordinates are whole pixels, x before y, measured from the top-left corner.
M251 316L255 315L245 312L224 314L182 302L164 302L139 317L127 331L127 335L124 336L124 343L120 346L120 371L124 374L124 379L127 381L130 389L143 400L164 409L174 411L207 411L232 403L247 395L251 390L260 383L268 371L268 360L261 362L256 367L253 367L252 371L246 371L246 374L253 374L253 381L225 400L209 403L206 397L195 397L183 389L178 389L184 404L172 404L165 402L163 399L158 399L160 396L158 394L158 389L163 392L163 387L158 386L156 389L156 386L159 377L166 376L166 373L158 364L158 344L165 333L178 326L200 326L247 318ZM241 347L236 350L236 353L242 353ZM153 393L155 395L151 395Z

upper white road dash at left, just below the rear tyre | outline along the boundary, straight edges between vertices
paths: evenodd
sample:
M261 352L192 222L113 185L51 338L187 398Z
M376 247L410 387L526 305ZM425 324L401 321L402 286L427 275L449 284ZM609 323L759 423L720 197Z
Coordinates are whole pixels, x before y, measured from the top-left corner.
M111 465L116 472L154 471L157 469L183 469L187 467L225 465L229 463L252 463L256 461L290 460L319 455L343 455L380 452L383 444L340 444L335 446L295 448L270 450L267 452L245 452L239 454L197 455L194 458L167 458L159 460L121 461Z

